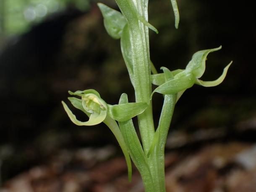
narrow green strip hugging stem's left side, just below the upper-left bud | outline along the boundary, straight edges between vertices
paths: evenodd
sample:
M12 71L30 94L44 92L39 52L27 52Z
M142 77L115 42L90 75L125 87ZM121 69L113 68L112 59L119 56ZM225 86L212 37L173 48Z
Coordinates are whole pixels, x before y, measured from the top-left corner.
M127 67L127 70L131 79L131 83L134 85L132 49L131 49L130 33L129 33L128 25L125 25L123 29L120 44L121 44L123 59L125 60L125 65Z

